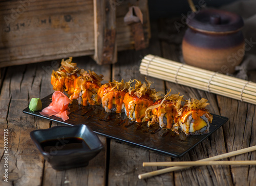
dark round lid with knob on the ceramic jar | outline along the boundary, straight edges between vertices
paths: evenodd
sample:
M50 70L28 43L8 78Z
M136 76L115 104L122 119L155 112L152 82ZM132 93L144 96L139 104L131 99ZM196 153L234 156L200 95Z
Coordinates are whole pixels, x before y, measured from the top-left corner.
M206 9L201 10L198 13L194 13L195 16L187 18L187 25L190 28L206 31L206 32L234 32L240 30L244 21L238 14L234 14L228 11Z

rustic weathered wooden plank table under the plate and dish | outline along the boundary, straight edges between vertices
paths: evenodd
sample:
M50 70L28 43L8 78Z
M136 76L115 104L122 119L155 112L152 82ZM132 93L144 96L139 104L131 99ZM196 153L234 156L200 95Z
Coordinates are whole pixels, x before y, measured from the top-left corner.
M109 79L125 81L137 78L141 58L146 54L158 55L179 61L182 37L170 23L173 20L152 22L150 47L140 51L123 51L118 54L118 63L98 66L89 57L74 58L78 67L94 70ZM183 31L182 31L183 32ZM182 32L179 35L182 36ZM45 129L61 124L35 118L22 113L32 97L44 98L53 92L50 84L52 69L59 61L42 62L1 69L0 94L0 185L256 185L255 166L201 166L175 171L148 179L138 179L138 174L163 167L142 167L142 162L196 161L202 158L246 148L255 144L255 105L211 94L197 89L164 82L148 77L157 90L172 88L185 98L209 100L211 113L226 116L229 121L208 139L175 159L159 153L127 145L102 136L104 149L90 161L88 167L55 171L40 155L30 139L35 129ZM249 72L249 80L256 82L255 71ZM8 161L4 158L4 132L8 130ZM228 160L255 160L255 152L231 157ZM8 166L8 182L4 181Z

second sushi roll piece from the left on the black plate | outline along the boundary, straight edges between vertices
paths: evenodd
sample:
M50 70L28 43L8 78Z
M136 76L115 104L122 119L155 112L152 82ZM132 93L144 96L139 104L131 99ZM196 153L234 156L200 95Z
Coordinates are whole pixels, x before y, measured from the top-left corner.
M77 99L78 104L83 106L99 105L101 103L98 96L98 90L101 87L103 75L98 75L94 71L84 71L81 69L80 76L75 81L74 93L70 96L70 100Z

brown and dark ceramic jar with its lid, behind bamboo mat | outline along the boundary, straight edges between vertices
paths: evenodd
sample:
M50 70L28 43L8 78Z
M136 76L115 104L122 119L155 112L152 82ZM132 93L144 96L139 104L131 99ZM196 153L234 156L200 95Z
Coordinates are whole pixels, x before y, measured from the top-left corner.
M207 9L187 18L182 41L186 64L221 73L233 73L244 57L243 19L231 12Z

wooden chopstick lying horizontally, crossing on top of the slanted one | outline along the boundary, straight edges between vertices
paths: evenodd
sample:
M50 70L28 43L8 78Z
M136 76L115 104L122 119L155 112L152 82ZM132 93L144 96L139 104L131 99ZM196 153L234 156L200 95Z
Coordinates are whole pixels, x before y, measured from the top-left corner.
M212 166L212 165L256 165L256 161L207 161L207 162L144 162L148 166Z

